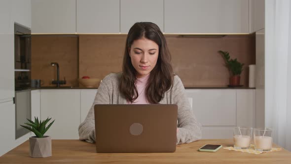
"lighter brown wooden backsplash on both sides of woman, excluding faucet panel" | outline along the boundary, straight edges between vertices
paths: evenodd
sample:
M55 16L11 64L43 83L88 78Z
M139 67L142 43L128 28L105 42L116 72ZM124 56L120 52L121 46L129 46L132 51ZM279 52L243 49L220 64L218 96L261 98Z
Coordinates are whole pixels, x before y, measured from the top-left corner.
M125 35L80 35L79 77L104 78L120 72ZM185 87L221 86L229 83L229 72L218 50L245 63L241 83L248 86L248 65L255 64L255 36L166 36L174 72Z

